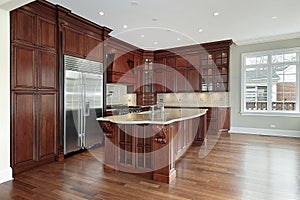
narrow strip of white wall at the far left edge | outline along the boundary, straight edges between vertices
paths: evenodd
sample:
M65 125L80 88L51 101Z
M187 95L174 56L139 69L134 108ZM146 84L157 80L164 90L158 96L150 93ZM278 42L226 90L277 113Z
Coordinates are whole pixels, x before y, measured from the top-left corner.
M9 11L32 0L0 2L0 183L12 179L10 167L10 25Z

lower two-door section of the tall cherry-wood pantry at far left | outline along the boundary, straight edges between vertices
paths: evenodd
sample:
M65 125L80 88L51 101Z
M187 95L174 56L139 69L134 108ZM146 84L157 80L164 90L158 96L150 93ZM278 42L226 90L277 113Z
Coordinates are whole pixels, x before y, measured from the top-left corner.
M54 161L57 155L56 92L13 92L14 174Z

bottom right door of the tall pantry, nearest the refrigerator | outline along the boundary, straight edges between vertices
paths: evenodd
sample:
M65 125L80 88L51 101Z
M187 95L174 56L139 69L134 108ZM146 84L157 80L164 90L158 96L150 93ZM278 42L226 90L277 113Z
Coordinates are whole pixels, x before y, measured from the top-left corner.
M57 149L57 96L56 93L40 93L37 97L39 159L54 157Z

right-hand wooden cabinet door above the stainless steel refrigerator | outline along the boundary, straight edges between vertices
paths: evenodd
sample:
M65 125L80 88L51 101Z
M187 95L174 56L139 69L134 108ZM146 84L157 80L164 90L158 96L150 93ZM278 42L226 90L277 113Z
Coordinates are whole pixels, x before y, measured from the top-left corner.
M88 60L103 62L103 44L101 39L92 35L85 35L85 57Z

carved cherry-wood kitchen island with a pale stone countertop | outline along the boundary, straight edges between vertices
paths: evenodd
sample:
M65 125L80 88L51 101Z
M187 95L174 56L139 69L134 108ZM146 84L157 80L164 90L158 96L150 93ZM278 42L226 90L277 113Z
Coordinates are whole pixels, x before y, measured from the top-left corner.
M199 130L206 130L206 111L170 108L97 118L106 136L104 169L170 183L176 178L176 160Z

